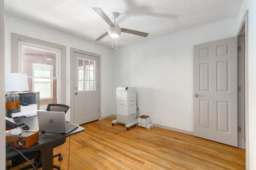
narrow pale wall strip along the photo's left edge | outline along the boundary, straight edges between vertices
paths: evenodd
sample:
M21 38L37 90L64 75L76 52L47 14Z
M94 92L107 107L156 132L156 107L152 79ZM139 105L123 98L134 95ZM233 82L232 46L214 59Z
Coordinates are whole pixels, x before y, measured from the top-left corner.
M0 169L5 169L4 0L0 0Z

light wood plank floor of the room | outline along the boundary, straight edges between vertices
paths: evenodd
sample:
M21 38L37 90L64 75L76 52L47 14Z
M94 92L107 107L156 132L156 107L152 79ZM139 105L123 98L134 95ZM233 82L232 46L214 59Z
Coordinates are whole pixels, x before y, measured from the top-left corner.
M163 128L111 126L114 117L84 125L70 138L70 170L84 169L245 169L245 150ZM54 149L68 169L68 144Z

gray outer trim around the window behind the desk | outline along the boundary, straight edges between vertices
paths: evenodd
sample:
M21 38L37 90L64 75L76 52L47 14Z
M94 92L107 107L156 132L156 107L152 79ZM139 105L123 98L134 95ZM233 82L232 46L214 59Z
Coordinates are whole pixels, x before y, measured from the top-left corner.
M66 46L60 45L57 43L52 43L52 42L47 42L44 40L39 40L36 38L31 38L28 36L23 36L20 34L16 33L11 33L11 71L14 71L15 73L20 73L20 66L19 66L19 44L18 41L24 41L27 43L35 43L38 45L44 45L47 48L52 47L55 49L60 49L60 69L59 69L59 75L61 79L59 80L59 101L57 103L60 104L66 104ZM40 107L40 109L46 109L47 106L45 107Z

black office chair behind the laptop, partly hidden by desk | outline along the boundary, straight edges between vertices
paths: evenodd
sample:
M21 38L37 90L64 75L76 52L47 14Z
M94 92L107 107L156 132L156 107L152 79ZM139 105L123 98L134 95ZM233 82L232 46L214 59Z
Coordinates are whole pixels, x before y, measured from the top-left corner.
M69 106L67 106L67 105L62 105L62 104L49 104L49 105L47 106L47 108L46 108L46 111L65 112L65 114L66 114L66 112L68 111L68 109L69 109ZM61 144L64 144L65 142L66 142L66 139L64 139L64 140L62 140L62 141L60 141L60 142L54 144L53 147L55 148L55 147L57 147L57 146L60 146ZM55 158L55 157L57 157L57 156L59 157L59 161L61 161L61 160L62 160L61 153L58 153L58 154L53 155L53 158ZM58 165L53 165L53 167L56 168L56 169L60 169L60 166L58 166Z

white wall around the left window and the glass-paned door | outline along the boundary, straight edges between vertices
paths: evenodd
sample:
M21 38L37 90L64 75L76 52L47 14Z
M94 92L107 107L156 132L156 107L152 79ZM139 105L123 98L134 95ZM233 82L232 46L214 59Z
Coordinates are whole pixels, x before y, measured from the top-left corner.
M34 24L27 20L17 18L15 16L5 15L5 66L6 72L10 72L11 68L11 32L37 38L40 40L58 43L66 46L66 78L70 78L70 47L97 53L101 55L101 111L102 117L112 115L114 113L114 103L109 98L113 98L112 89L112 49L98 45L97 43L88 42L86 40L64 34L62 32ZM70 84L66 85L66 104L70 105ZM70 112L66 114L67 120L70 119Z

